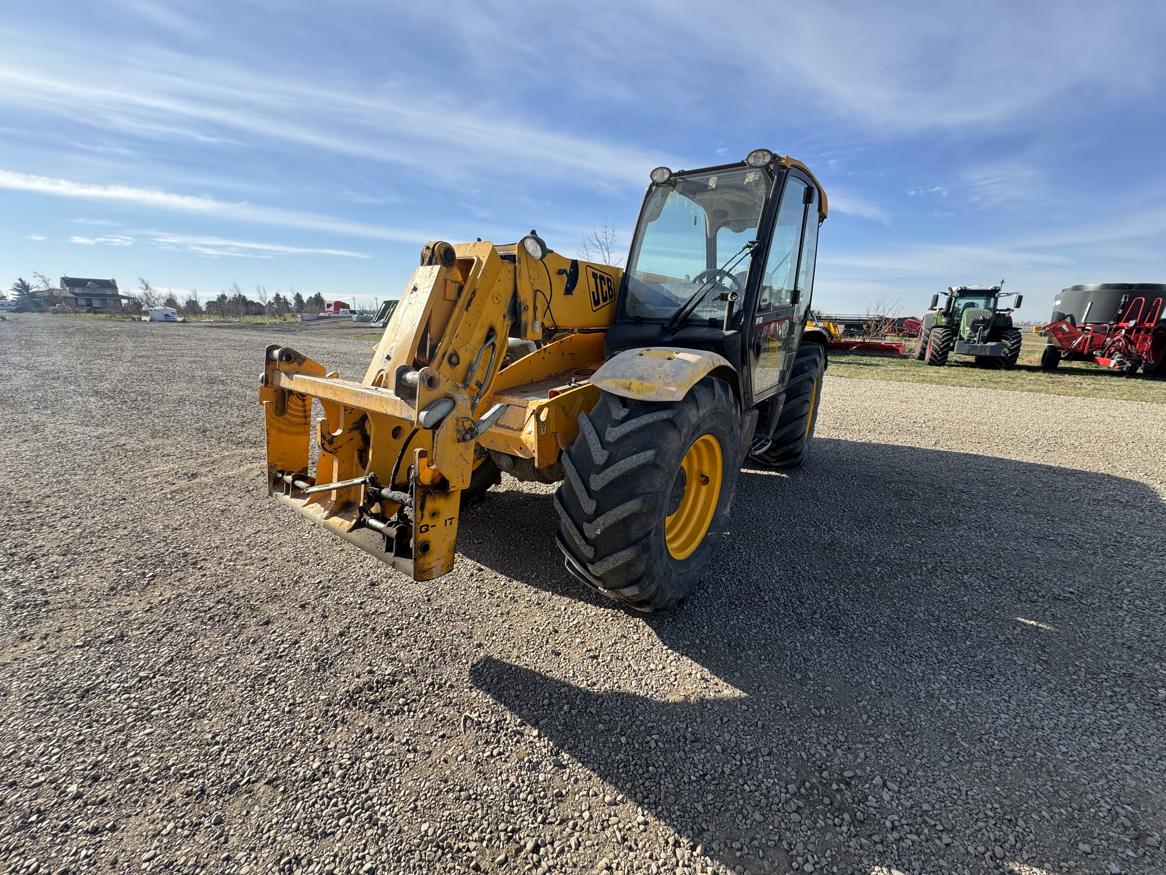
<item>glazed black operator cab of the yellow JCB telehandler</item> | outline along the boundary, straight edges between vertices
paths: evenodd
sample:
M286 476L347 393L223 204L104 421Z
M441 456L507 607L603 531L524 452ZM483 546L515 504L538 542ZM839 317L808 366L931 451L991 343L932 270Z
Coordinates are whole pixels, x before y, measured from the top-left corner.
M808 168L768 149L701 170L656 168L605 357L708 350L737 369L746 407L778 392L806 323L826 214Z

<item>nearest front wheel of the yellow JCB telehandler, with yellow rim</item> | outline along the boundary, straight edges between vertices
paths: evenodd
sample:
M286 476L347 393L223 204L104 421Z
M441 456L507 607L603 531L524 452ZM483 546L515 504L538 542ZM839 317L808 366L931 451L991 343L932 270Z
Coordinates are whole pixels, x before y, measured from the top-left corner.
M562 455L556 540L567 569L610 598L667 610L721 546L740 470L740 410L705 377L680 401L607 392Z

